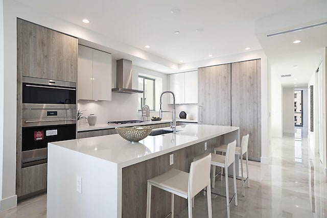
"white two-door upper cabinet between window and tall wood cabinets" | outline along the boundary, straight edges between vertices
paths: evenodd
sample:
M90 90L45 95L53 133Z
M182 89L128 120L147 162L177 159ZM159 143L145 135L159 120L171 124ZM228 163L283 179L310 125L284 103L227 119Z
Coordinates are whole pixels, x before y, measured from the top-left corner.
M169 89L175 94L176 104L198 103L198 71L169 75ZM173 104L170 95L169 103Z

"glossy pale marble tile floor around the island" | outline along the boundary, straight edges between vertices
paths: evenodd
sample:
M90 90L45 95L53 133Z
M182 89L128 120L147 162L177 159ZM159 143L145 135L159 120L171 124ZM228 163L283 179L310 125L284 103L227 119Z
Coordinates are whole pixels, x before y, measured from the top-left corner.
M237 181L238 206L230 204L231 217L327 217L326 178L306 135L296 132L295 138L294 134L273 138L271 163L249 162L250 188L245 188L243 197L241 181ZM224 195L224 183L224 179L216 181L213 192ZM229 190L231 196L231 178ZM225 198L212 195L212 208L213 217L227 217ZM46 217L46 194L22 201L0 217ZM187 208L175 217L188 217ZM206 197L196 197L193 217L207 217Z

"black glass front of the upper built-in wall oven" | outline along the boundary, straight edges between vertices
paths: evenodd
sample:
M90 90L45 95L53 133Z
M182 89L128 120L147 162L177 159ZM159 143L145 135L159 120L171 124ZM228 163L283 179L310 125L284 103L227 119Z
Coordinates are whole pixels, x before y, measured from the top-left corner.
M37 87L35 84L23 83L22 103L76 104L76 90L46 85Z

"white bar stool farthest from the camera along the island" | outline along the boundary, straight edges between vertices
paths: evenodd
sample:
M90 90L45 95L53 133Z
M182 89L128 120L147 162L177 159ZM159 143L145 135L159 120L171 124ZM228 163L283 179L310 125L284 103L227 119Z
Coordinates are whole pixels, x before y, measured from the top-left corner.
M241 158L241 180L242 180L242 190L243 193L242 195L245 196L245 192L244 192L244 185L247 182L247 187L250 187L250 180L249 180L249 165L248 165L248 156L247 156L247 146L248 146L248 141L249 141L249 134L244 135L242 137L242 142L241 142L241 146L240 147L236 147L235 150L235 154L239 155ZM217 154L217 152L222 152L222 153L226 153L227 150L227 146L226 144L223 144L220 147L217 147L214 149L214 153ZM243 176L243 155L246 153L246 179L244 180L244 176ZM227 171L226 171L227 172ZM213 180L215 181L216 179L216 172L214 173L214 178ZM225 173L226 174L226 173ZM228 173L227 173L228 174ZM215 183L213 182L213 188L215 187Z

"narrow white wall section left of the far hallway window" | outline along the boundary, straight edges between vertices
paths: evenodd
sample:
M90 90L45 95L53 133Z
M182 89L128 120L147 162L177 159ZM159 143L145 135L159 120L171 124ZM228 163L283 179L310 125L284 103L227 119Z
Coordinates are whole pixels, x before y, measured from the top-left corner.
M283 133L294 133L294 88L283 88Z

